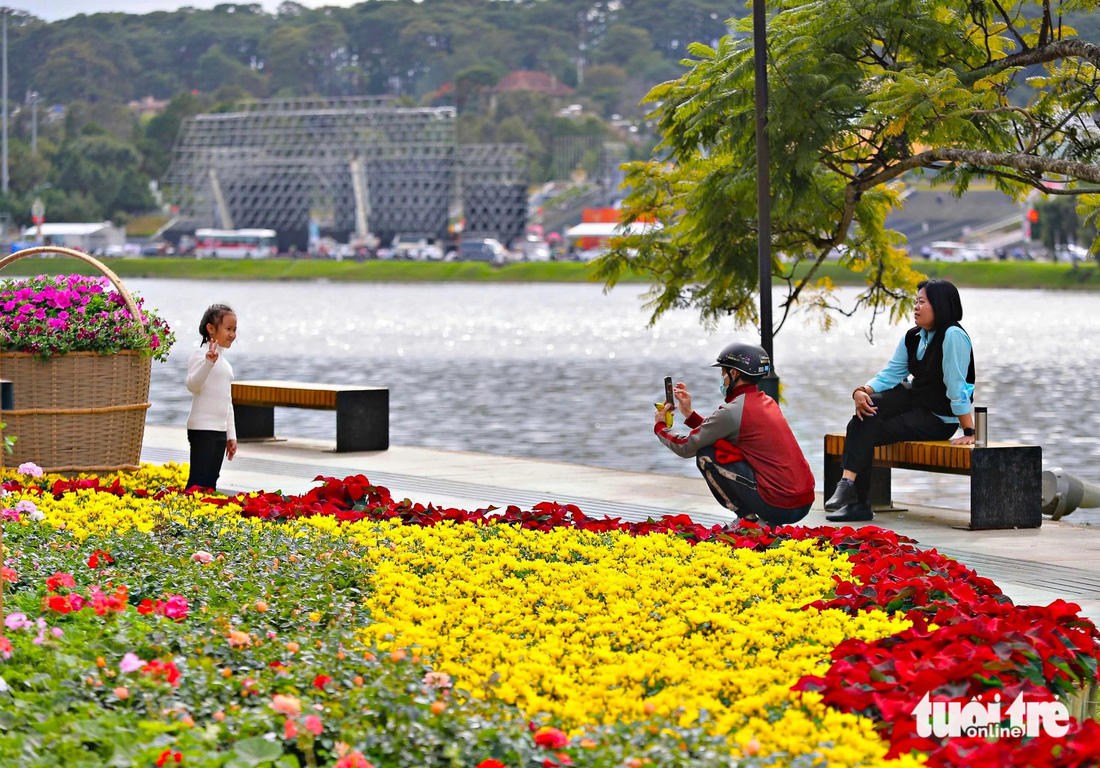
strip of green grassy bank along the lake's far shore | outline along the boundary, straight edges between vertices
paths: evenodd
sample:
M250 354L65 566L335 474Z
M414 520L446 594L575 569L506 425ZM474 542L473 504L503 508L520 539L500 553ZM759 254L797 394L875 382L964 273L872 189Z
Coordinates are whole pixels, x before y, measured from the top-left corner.
M330 279L344 282L470 282L470 283L585 283L592 267L575 262L539 262L493 267L471 262L333 262L320 260L219 261L194 259L106 259L120 277L190 279ZM1100 290L1094 263L1074 270L1068 264L1034 262L980 262L945 264L917 261L914 266L930 277L946 277L956 285L982 288L1074 288ZM6 267L0 277L61 273L96 274L70 259L25 259ZM839 285L860 285L862 277L835 263L818 271ZM635 282L645 282L635 277Z

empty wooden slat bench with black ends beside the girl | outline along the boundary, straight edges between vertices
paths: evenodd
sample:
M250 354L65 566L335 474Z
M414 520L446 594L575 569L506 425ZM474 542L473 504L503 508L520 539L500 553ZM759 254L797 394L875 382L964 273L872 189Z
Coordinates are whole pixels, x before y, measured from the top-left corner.
M337 452L389 448L389 390L384 386L233 382L238 440L275 438L275 408L337 412Z

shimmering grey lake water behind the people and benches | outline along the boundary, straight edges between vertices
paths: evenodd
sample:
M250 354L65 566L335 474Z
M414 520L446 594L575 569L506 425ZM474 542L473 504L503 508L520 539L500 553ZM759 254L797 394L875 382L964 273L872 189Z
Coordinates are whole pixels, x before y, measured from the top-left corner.
M183 427L184 374L198 320L213 301L233 306L239 337L228 352L237 377L387 386L391 442L524 456L666 474L694 474L652 435L662 380L683 381L696 410L721 401L710 367L751 329L703 328L692 312L648 326L641 286L330 284L143 281L131 289L176 330L167 363L154 363L152 424ZM851 289L842 292L850 298ZM777 293L777 299L779 294ZM1100 295L1043 290L963 292L975 342L977 405L993 440L1043 446L1044 468L1100 482ZM850 393L889 359L903 327L869 315L823 332L789 320L776 337L783 409L822 490L822 436L842 430ZM333 414L276 409L283 435L334 439ZM563 479L568 482L568 479ZM828 492L832 489L827 490ZM894 498L966 508L966 478L894 472ZM1067 522L1100 524L1100 511Z

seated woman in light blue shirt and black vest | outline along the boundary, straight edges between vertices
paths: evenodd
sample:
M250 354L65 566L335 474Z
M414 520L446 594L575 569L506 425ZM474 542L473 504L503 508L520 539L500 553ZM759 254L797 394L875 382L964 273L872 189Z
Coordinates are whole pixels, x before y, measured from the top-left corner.
M963 300L945 279L917 285L916 308L893 356L879 374L851 393L836 492L825 502L831 523L869 520L867 503L876 446L902 440L946 440L963 426L956 446L974 443L974 348L963 330Z

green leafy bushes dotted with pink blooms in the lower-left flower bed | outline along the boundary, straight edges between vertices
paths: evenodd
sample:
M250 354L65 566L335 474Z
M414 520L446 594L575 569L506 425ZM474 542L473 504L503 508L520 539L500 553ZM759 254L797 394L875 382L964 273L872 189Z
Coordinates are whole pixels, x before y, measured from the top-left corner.
M197 515L195 504L176 494L161 506L150 533L86 540L42 524L4 522L6 564L18 573L6 615L24 618L7 630L11 654L0 658L0 768L152 766L165 750L179 753L184 766L331 766L340 744L378 768L476 766L487 758L537 768L554 754L535 745L528 717L496 699L492 687L485 699L444 692L426 682L431 660L416 649L397 660L363 647L356 629L371 623L371 574L360 545ZM200 550L215 559L196 562ZM50 594L70 592L47 589L56 573L72 574L72 592L85 596L92 586L117 595L124 585L125 604L102 615L90 606L47 610ZM168 595L187 601L178 621L139 612L144 601ZM240 633L234 643L231 630ZM170 662L177 684L141 666L127 671L127 654L142 663ZM276 694L296 699L300 714L276 712ZM436 701L447 709L433 713ZM319 718L319 734L307 731L309 715ZM554 751L593 768L622 768L635 757L668 768L730 765L726 737L707 735L705 717L686 726L660 717L597 726L586 733L595 746L573 739ZM288 721L297 734L288 735ZM810 758L821 759L789 764L783 757L738 765L809 768ZM167 765L176 765L174 758Z

